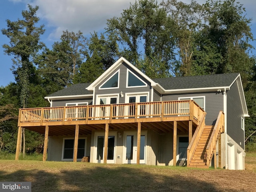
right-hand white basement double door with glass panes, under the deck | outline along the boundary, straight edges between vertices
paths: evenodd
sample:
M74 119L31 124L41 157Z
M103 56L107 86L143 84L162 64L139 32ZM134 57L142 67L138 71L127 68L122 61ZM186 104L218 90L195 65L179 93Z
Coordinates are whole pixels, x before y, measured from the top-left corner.
M146 164L146 131L140 135L140 164ZM124 132L123 164L137 163L137 132Z

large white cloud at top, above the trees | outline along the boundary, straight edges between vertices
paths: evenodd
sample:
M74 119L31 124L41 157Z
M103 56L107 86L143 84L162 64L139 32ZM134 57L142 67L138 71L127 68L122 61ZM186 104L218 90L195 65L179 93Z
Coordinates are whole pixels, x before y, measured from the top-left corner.
M30 4L38 5L38 16L55 29L52 38L59 38L63 30L80 30L84 35L103 30L107 19L130 6L126 0L32 0Z

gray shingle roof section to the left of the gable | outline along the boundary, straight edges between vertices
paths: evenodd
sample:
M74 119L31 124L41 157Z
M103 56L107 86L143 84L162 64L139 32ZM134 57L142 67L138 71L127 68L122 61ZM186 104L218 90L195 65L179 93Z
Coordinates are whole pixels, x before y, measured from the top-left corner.
M56 96L72 96L72 95L87 95L92 94L92 92L88 91L86 87L88 87L90 83L80 83L74 84L67 88L64 88L60 91L52 93L46 97L56 97Z

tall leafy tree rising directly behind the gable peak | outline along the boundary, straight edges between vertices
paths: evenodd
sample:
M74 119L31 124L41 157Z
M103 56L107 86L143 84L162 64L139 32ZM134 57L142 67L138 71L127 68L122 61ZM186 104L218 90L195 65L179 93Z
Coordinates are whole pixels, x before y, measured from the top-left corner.
M130 62L135 64L145 56L148 60L162 61L169 70L174 60L174 21L156 1L139 0L119 18L108 20L107 25L107 34L116 37L123 47L120 54Z

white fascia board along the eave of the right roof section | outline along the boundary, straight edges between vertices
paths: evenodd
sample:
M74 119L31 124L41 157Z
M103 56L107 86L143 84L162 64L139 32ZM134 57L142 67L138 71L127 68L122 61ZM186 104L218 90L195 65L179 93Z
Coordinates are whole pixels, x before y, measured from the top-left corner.
M169 93L191 93L191 92L205 92L205 91L217 91L217 90L229 90L229 87L204 87L204 88L189 88L189 89L172 89L172 90L164 90L163 94Z

